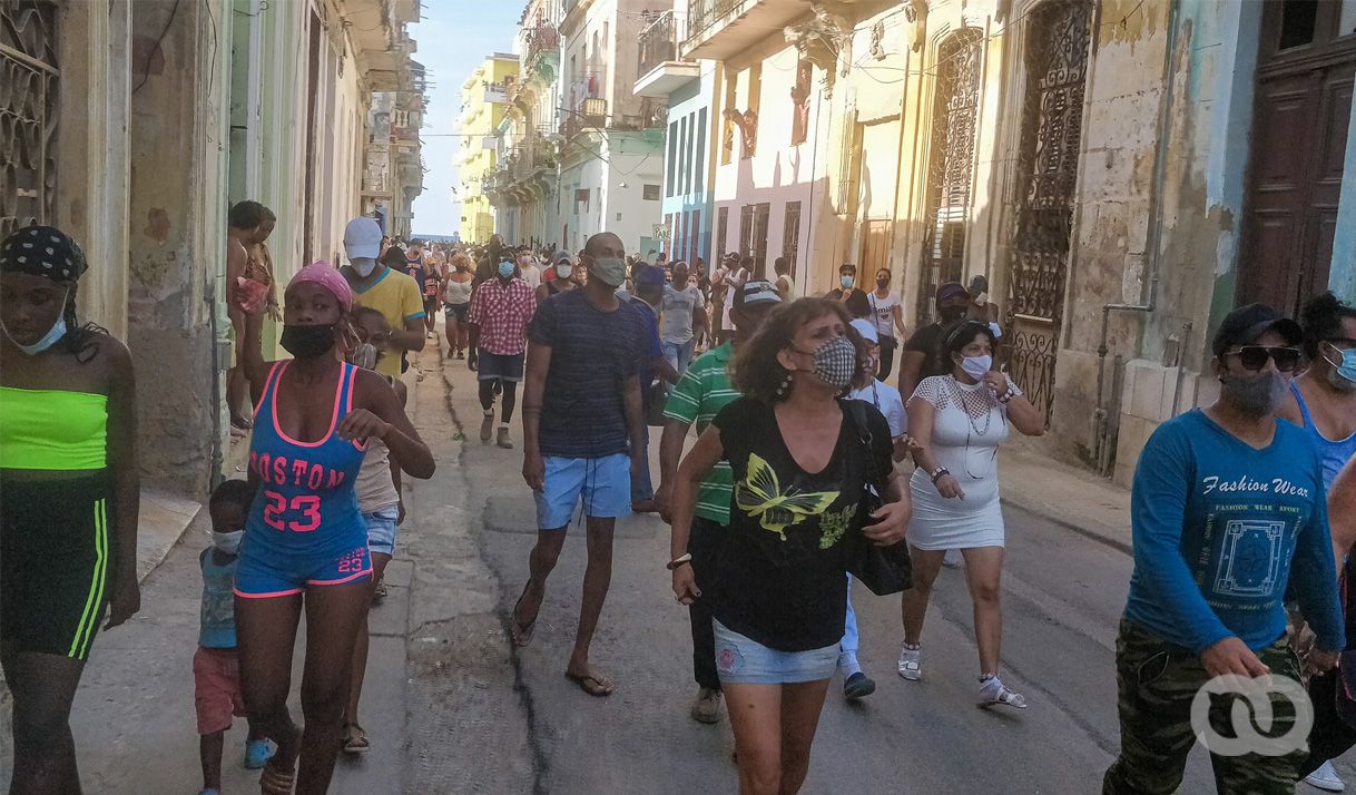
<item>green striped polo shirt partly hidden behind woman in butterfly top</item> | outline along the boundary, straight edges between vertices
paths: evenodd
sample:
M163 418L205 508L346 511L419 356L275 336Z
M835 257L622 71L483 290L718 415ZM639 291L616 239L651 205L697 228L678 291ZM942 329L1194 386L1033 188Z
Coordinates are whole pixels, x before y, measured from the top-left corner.
M730 383L730 357L734 353L734 345L727 342L687 365L687 372L669 395L664 416L687 425L696 423L697 433L705 433L716 414L739 398ZM697 491L697 516L728 526L730 498L734 492L735 475L730 469L730 461L719 461Z

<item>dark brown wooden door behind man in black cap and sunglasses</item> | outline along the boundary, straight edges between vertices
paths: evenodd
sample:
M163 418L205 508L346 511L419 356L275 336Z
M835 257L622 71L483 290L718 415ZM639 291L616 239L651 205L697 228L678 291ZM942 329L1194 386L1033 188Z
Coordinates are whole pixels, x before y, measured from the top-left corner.
M1239 304L1287 313L1328 288L1356 76L1340 3L1273 3L1262 15Z

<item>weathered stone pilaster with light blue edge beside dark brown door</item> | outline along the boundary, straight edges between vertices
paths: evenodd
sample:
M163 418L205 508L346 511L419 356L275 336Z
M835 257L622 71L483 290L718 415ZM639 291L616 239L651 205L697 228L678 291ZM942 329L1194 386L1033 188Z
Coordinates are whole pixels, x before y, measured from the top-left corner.
M1155 311L1117 392L1115 478L1128 484L1149 435L1214 400L1210 339L1234 305L1261 4L1181 0L1163 138Z

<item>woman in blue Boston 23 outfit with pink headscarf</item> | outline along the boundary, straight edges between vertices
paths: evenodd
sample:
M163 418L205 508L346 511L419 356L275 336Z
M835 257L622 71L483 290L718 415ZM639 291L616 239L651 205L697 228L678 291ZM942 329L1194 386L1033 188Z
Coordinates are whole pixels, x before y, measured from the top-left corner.
M245 297L235 301L248 312ZM262 315L247 313L244 366L254 389L250 479L258 495L236 570L240 686L250 718L278 743L262 791L325 792L339 752L353 643L369 602L372 559L354 482L366 442L380 438L414 478L433 475L385 379L340 360L353 293L325 263L287 285L282 346L292 361L264 362ZM292 650L306 608L300 731L287 714ZM296 771L297 758L301 769Z

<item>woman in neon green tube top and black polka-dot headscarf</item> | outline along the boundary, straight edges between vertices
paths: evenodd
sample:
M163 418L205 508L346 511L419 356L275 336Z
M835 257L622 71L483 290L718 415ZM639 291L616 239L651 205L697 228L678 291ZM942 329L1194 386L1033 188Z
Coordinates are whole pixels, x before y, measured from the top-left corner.
M0 243L0 663L11 792L79 794L71 701L104 628L141 608L132 354L76 317L88 265L52 227Z

